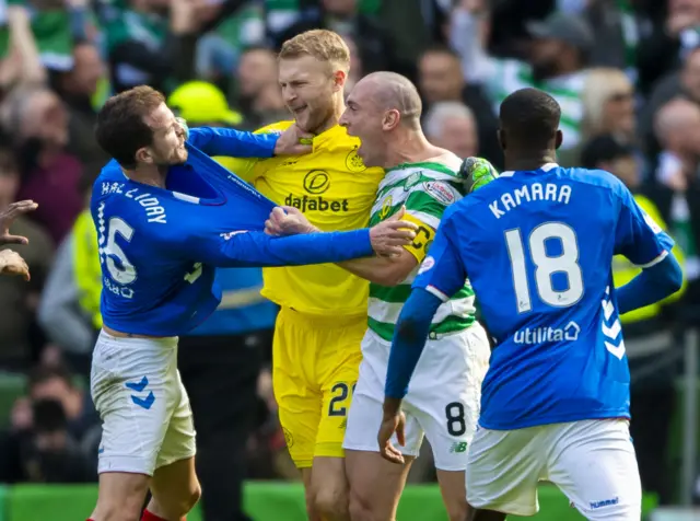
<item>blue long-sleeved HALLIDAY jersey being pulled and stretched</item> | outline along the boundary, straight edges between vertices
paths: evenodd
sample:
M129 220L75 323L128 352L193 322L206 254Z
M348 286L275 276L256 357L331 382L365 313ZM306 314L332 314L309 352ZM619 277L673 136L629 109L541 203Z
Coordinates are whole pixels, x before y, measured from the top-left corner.
M219 305L215 267L316 264L373 254L368 230L266 235L265 220L275 205L207 155L270 157L277 138L191 129L187 162L168 170L166 188L129 180L116 161L103 169L91 211L107 327L150 336L187 333Z

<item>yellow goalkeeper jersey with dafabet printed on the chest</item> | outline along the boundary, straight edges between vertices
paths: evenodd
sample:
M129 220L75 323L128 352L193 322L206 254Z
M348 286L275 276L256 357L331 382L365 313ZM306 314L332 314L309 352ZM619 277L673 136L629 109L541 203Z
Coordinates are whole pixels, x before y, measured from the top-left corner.
M280 121L258 132L282 131ZM324 231L368 225L384 171L368 169L357 153L360 140L339 125L313 138L306 155L265 160L215 158L280 206L299 208ZM366 314L369 282L332 264L265 268L262 296L303 313Z

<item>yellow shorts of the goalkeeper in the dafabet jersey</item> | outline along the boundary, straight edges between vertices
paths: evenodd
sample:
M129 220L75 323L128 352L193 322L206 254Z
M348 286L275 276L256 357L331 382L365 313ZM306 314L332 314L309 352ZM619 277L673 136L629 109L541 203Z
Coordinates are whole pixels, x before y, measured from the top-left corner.
M282 308L275 325L272 384L290 455L343 458L366 316L316 316Z

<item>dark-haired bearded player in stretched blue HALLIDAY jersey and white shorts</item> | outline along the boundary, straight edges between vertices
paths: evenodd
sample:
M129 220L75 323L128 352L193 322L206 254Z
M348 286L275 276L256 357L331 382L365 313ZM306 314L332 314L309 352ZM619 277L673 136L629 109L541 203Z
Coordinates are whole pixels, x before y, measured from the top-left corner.
M177 337L219 305L215 267L339 262L393 254L416 227L272 238L281 208L209 155L306 151L294 126L280 135L187 130L149 86L107 101L97 142L114 160L94 184L91 211L102 264L103 331L91 391L103 420L93 521L179 521L199 498L195 431L177 371Z

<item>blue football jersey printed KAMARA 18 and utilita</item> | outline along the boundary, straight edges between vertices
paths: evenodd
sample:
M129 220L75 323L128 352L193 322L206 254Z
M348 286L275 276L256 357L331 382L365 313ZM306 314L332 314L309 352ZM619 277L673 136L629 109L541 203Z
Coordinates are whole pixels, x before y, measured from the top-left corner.
M629 417L612 256L649 267L672 239L603 171L506 172L447 209L413 287L474 287L497 339L480 425Z

